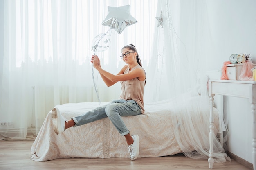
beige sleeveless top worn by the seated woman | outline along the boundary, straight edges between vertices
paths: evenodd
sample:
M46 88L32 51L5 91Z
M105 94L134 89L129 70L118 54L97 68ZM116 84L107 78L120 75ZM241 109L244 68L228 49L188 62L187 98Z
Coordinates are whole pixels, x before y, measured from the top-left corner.
M139 64L136 65L132 70L134 69L143 69ZM130 71L129 67L126 68L124 71L124 74L128 73ZM145 72L145 70L144 70ZM144 95L144 86L145 81L140 81L137 78L133 78L131 80L121 81L121 98L125 100L135 100L138 105L141 107L141 113L144 113L144 102L143 102L143 95Z

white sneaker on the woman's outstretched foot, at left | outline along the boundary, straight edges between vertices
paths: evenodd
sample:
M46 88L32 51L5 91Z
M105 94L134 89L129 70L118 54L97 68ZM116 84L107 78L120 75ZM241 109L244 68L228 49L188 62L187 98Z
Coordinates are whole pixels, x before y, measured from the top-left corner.
M54 132L56 133L56 135L58 135L66 130L65 122L68 122L68 121L61 116L61 113L58 110L58 108L53 108L52 109L52 123L53 123L53 127L54 127Z

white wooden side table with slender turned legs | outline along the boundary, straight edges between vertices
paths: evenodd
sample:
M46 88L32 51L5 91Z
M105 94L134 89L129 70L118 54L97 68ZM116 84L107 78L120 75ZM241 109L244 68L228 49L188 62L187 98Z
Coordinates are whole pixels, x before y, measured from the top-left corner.
M209 150L209 168L213 168L213 100L215 94L224 96L234 96L240 98L248 98L252 109L252 157L253 168L256 170L256 81L240 81L240 80L209 80L209 96L210 96L210 150Z

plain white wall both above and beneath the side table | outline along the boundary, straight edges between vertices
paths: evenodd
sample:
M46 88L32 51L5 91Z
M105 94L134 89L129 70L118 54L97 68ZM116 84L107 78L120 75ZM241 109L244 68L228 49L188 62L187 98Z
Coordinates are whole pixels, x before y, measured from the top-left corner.
M256 0L207 1L212 36L210 63L204 69L221 70L232 53L250 54L256 63ZM228 150L252 163L252 113L249 100L225 97L224 114L228 121Z

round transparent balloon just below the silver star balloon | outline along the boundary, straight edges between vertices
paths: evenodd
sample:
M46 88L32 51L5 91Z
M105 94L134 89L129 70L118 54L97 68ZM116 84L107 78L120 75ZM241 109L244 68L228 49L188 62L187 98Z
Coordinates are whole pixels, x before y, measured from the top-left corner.
M108 49L110 42L110 37L106 33L101 33L92 40L92 50L94 52L103 52Z

